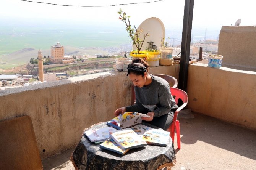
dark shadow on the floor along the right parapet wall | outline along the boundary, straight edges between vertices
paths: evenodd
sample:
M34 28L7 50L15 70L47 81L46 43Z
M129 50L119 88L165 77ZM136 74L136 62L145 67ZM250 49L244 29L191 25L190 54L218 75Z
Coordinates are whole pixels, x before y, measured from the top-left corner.
M182 143L194 144L203 141L256 160L256 131L203 114L193 114L194 119L179 119Z

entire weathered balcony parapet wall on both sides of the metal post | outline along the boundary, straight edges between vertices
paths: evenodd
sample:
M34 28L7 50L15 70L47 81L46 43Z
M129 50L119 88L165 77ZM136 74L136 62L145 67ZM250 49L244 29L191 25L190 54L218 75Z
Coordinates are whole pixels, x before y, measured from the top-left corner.
M178 79L179 64L150 73ZM192 111L256 129L256 73L190 64L188 106ZM246 94L246 95L244 95ZM42 159L79 143L84 128L114 117L128 106L126 72L110 71L0 91L0 121L28 115ZM43 152L45 149L45 152Z

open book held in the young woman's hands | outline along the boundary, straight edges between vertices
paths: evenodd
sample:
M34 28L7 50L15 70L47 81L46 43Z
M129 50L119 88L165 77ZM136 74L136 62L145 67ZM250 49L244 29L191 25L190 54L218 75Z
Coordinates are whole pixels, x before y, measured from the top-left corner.
M116 129L123 129L128 127L133 127L142 122L141 117L150 117L149 115L138 113L138 112L124 112L123 115L118 115L110 121L107 125L112 126Z

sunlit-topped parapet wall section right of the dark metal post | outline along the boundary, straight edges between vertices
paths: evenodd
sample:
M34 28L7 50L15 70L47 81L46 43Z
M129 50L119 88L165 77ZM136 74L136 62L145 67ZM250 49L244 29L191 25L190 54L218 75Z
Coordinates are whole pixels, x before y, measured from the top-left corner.
M188 71L188 107L256 130L255 80L256 72L192 64Z

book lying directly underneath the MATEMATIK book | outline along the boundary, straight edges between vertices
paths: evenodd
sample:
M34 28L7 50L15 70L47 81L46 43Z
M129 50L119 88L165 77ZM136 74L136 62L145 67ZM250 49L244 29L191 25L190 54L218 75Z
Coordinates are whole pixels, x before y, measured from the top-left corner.
M117 152L118 154L125 154L129 149L123 150L111 137L109 137L106 141L100 144L100 148L104 148L113 152Z

